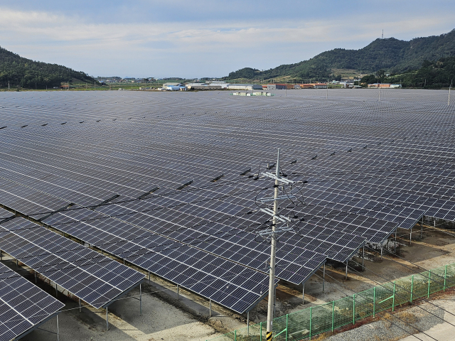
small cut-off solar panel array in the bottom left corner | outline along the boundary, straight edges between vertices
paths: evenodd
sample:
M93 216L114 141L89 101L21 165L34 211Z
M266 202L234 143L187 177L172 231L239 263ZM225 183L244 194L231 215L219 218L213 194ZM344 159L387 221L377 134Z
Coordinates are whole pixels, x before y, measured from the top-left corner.
M0 263L0 341L16 340L65 305Z

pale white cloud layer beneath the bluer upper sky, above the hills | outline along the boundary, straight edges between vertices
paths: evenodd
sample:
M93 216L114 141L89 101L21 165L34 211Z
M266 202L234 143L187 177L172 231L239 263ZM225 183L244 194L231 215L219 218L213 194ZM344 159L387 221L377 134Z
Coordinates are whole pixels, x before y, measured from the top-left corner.
M395 38L444 33L451 29L452 18L446 13L405 19L388 16L382 21L363 16L357 22L329 18L281 23L91 23L78 16L3 7L0 44L27 58L96 75L221 76L233 65L269 68L311 58L321 48L361 48L379 37L382 28L385 36Z

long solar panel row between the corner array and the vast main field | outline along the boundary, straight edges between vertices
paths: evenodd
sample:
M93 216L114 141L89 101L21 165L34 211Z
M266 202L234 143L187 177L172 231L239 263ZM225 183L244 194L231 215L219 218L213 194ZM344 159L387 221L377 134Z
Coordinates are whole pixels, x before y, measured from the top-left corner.
M144 275L33 222L0 224L0 249L95 308L139 285Z

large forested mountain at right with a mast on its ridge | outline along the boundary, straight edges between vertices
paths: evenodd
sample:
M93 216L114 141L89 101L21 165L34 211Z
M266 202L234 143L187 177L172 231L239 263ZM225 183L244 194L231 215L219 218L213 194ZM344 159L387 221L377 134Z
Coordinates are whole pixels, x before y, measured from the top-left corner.
M336 48L323 52L310 60L296 64L280 65L260 71L245 67L230 72L225 80L247 78L269 80L290 76L297 80L309 77L334 77L333 69L351 69L359 73L374 73L385 70L399 73L417 70L424 60L435 61L455 55L455 30L440 36L414 38L410 41L395 38L376 39L360 50Z

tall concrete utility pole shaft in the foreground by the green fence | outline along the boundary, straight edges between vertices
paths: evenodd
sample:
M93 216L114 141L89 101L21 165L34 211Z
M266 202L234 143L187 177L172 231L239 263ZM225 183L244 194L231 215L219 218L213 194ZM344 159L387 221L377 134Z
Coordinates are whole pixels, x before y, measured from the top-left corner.
M267 306L267 341L272 340L272 324L273 324L273 306L274 306L274 288L275 288L275 254L277 252L277 239L275 232L277 231L277 213L278 213L278 178L279 178L279 148L277 157L277 171L275 171L275 194L273 202L273 220L272 220L272 248L270 250L270 278L269 278L269 302Z

